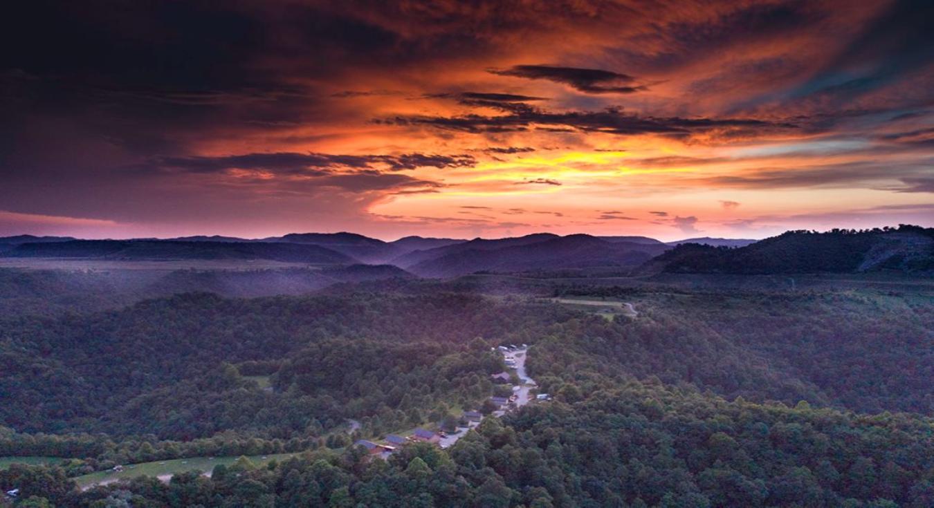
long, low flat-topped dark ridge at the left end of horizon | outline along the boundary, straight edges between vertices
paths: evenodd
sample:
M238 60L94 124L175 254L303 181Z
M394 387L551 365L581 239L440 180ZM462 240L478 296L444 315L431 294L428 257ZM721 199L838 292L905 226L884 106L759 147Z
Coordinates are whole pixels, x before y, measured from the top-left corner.
M2 253L16 258L106 260L270 260L347 264L353 258L334 250L286 243L182 242L177 240L71 240L21 244Z

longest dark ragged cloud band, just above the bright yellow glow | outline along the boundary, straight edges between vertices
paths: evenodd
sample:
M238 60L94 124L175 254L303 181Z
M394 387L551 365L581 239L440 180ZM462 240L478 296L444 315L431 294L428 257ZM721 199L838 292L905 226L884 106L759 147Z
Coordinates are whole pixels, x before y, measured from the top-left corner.
M712 130L734 133L756 134L778 129L794 129L789 122L772 122L755 119L710 119L680 117L647 117L624 112L619 108L603 111L569 111L552 113L540 109L517 111L509 115L460 117L408 116L395 117L377 122L396 125L426 125L439 129L466 133L502 133L527 131L536 126L539 130L582 131L605 134L667 134L686 136Z

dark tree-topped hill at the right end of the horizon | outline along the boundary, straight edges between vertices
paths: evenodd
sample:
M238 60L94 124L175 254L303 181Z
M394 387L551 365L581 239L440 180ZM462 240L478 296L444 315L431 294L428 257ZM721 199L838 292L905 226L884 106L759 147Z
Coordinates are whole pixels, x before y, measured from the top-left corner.
M698 274L897 270L934 274L934 229L900 226L859 232L793 231L738 248L683 244L647 263L644 270Z

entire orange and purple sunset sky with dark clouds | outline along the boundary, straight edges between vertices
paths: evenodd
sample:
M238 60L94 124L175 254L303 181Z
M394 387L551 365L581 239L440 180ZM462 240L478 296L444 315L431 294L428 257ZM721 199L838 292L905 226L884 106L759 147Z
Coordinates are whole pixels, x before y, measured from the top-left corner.
M934 2L22 3L0 235L934 226Z

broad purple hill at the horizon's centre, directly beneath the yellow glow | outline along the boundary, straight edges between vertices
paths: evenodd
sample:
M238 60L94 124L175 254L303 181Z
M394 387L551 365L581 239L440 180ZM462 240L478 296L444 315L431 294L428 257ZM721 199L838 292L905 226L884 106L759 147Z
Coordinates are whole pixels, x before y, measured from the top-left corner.
M475 272L555 271L595 266L631 267L638 266L669 248L660 243L647 245L607 242L587 234L533 235L522 239L471 241L434 249L444 252L440 256L419 261L409 266L408 270L422 276L452 277Z

